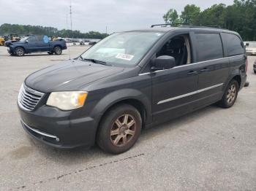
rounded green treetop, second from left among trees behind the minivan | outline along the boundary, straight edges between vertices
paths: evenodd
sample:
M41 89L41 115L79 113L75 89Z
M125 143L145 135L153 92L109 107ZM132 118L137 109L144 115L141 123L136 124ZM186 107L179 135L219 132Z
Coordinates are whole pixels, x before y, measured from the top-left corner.
M200 7L195 6L195 4L187 4L180 17L183 23L193 23L199 14Z

